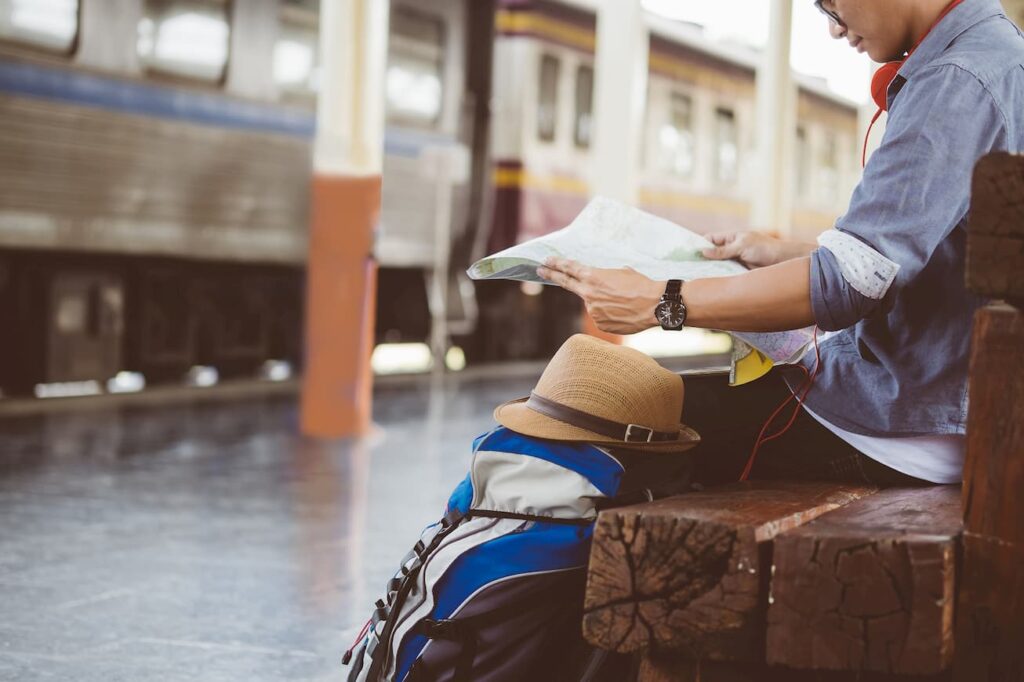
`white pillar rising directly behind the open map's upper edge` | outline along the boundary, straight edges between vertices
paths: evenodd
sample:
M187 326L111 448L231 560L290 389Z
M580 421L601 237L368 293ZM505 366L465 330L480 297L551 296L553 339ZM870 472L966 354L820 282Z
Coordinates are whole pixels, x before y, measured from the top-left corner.
M600 0L591 194L636 204L649 36L640 0Z

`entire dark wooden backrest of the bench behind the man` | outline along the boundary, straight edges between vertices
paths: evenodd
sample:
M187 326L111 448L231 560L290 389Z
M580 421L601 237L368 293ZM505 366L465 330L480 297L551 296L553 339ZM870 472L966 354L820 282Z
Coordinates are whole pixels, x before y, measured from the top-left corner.
M974 174L967 283L1013 301L978 311L971 352L957 682L1024 680L1024 157Z

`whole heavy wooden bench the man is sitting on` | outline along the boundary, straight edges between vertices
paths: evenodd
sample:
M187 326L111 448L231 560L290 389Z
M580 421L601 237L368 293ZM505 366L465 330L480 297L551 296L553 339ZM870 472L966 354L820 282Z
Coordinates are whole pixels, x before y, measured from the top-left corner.
M963 486L751 482L603 512L584 634L639 679L1024 682L1024 157L974 177Z

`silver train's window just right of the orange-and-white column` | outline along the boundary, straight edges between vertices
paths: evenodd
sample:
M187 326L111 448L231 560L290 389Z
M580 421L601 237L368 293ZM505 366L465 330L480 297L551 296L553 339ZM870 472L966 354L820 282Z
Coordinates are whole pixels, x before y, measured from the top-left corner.
M387 109L392 121L435 126L443 108L444 24L398 7L391 13Z

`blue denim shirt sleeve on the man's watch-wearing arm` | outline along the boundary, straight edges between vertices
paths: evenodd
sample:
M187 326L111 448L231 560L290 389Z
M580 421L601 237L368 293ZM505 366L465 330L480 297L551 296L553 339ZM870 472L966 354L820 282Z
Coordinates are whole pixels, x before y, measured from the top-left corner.
M975 162L1006 140L1006 119L970 72L923 70L895 98L882 145L836 228L898 266L878 298L847 281L837 254L811 255L811 307L824 331L885 312L967 215Z

